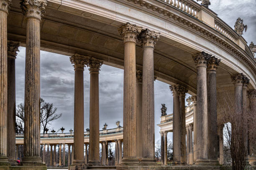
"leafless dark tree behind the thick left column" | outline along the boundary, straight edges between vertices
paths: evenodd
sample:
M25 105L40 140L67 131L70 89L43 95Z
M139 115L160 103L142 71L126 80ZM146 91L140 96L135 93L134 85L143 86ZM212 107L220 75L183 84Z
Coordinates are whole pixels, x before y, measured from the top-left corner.
M62 116L57 114L57 107L54 107L53 103L45 102L40 98L40 125L43 133L46 133L46 129L49 128L53 120L59 119ZM24 130L24 103L20 103L16 108L16 133L23 133Z

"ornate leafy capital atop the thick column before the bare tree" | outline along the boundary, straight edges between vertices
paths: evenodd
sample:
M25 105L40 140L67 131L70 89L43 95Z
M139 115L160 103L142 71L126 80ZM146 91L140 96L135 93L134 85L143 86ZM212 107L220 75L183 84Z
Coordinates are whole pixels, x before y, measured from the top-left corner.
M44 16L47 0L21 0L20 8L26 18L33 17L41 20Z

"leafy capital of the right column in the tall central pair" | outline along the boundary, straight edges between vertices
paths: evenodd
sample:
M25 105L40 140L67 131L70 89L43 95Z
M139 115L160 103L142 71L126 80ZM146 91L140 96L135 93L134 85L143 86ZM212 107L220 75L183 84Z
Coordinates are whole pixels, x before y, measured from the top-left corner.
M139 38L142 42L143 47L154 47L159 37L160 33L156 33L154 31L146 29L141 32Z

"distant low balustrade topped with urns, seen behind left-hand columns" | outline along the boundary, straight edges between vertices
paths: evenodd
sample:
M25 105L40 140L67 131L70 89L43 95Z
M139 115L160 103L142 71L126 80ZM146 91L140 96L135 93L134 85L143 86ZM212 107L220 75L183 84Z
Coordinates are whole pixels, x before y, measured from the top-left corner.
M100 130L100 135L108 135L123 132L123 127ZM89 136L90 132L84 132L84 136ZM74 133L45 133L40 134L40 138L67 138L74 137ZM16 134L16 138L24 138L24 134Z

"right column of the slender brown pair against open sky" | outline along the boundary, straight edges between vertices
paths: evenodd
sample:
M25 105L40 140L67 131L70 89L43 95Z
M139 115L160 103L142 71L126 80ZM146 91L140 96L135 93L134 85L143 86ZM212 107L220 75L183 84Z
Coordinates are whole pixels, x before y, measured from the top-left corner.
M100 105L99 105L99 71L103 61L95 58L87 60L90 71L90 137L89 165L100 165Z

